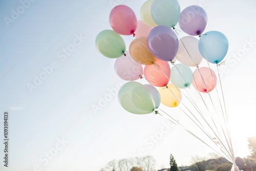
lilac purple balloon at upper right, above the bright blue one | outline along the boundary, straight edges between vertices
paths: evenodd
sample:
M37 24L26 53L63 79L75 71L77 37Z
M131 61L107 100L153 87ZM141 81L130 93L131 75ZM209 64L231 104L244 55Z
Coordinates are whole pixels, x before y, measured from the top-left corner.
M203 33L207 25L207 14L199 6L192 5L180 13L179 26L185 33L196 36Z

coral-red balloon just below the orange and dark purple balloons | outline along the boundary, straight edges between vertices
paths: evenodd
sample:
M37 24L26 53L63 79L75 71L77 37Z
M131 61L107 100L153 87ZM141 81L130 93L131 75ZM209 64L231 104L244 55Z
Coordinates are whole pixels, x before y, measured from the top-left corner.
M144 76L148 83L156 87L165 87L170 79L170 66L167 61L156 59L153 65L145 66Z

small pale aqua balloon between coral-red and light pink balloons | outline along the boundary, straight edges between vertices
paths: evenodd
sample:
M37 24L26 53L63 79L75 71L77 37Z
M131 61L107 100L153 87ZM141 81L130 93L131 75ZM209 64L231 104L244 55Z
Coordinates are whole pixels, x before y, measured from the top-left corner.
M170 80L177 88L186 89L193 81L193 72L190 67L178 63L170 70Z

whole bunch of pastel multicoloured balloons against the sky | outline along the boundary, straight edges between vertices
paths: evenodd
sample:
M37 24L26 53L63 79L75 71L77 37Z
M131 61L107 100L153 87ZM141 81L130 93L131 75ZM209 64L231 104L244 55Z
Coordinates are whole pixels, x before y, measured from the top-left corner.
M181 11L177 0L148 0L141 6L140 18L128 6L114 7L109 15L113 30L101 31L95 41L103 56L116 59L116 74L128 81L118 94L123 109L148 114L160 103L179 105L180 89L190 85L202 93L215 89L215 72L199 65L203 58L218 65L227 53L228 40L219 31L204 33L207 14L203 8L192 5ZM176 26L187 36L180 38ZM135 37L129 49L124 35ZM136 82L142 77L149 84Z

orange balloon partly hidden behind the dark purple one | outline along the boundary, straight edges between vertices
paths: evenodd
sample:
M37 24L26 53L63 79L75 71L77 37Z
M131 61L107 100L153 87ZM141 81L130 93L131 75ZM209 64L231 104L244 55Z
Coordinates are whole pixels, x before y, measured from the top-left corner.
M142 65L152 65L156 61L156 57L147 48L147 38L139 37L134 39L129 47L132 58Z

